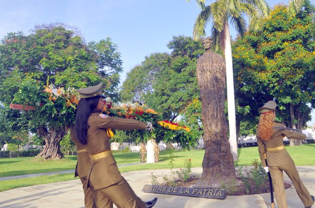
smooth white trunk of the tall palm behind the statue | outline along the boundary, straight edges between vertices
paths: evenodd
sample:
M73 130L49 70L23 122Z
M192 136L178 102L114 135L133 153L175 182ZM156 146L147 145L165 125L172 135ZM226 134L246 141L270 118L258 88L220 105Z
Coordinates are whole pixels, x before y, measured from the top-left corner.
M226 64L226 93L227 93L227 112L229 121L230 133L230 148L233 160L237 161L237 136L236 136L236 122L235 122L235 99L234 99L234 80L233 80L233 65L232 65L232 50L231 50L231 36L229 24L224 23L225 44L224 56Z

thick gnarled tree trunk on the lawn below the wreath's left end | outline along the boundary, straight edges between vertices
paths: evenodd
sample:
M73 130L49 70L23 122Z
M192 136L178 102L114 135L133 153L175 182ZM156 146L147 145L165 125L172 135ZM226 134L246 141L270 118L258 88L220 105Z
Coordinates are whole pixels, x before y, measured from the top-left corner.
M63 154L60 153L60 140L67 134L65 127L50 130L40 127L37 129L37 134L45 140L45 147L37 157L44 157L44 159L61 159L63 157Z

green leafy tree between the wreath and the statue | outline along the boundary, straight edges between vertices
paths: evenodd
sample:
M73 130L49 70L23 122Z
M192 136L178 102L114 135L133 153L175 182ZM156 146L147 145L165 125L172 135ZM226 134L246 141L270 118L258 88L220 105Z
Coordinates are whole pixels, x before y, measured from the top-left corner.
M154 53L128 74L121 89L124 101L148 104L173 121L199 99L196 60L204 52L201 42L191 37L173 37L171 53Z

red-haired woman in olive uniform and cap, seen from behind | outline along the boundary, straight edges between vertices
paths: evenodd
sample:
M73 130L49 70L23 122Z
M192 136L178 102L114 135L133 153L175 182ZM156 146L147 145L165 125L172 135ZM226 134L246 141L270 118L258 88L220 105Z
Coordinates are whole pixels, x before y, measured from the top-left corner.
M257 128L257 143L262 166L266 171L270 171L276 202L279 208L287 208L285 188L283 182L283 171L291 179L296 192L306 208L311 208L314 204L314 197L310 195L302 183L294 161L285 150L283 136L292 139L305 140L306 135L295 131L289 131L282 124L275 123L275 108L277 104L269 101L258 110L261 112ZM266 154L267 164L263 154Z

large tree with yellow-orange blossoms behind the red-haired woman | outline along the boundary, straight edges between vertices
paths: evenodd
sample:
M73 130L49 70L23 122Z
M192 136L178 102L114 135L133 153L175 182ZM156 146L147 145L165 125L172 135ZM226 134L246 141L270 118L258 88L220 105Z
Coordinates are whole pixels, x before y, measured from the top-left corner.
M275 100L279 121L300 130L315 107L314 6L308 0L303 5L294 15L286 5L276 5L261 32L249 32L233 45L240 94L259 104L251 106L252 117L263 103Z

